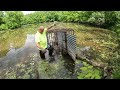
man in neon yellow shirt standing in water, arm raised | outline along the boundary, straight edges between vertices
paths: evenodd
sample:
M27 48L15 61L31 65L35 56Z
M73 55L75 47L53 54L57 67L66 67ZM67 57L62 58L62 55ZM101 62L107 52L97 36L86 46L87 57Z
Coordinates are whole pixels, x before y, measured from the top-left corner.
M53 53L53 48L52 47L48 48L46 34L47 31L55 25L56 24L54 23L52 26L48 28L44 28L43 26L40 26L37 33L35 34L35 42L36 42L36 46L38 47L41 59L47 59L45 54L48 54L49 52Z

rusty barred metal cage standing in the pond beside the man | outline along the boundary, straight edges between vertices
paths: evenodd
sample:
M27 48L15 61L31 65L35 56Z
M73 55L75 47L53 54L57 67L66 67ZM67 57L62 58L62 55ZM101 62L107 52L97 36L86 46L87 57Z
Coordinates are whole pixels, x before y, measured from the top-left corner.
M47 39L49 45L58 45L62 54L68 53L76 60L76 36L73 29L51 29L47 33Z

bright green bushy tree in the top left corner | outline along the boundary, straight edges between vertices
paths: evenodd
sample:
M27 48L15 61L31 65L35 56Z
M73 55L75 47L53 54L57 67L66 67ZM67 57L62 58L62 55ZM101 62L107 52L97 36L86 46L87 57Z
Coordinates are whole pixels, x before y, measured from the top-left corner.
M6 11L5 15L2 15L2 22L0 29L14 29L21 27L22 25L22 18L23 18L23 13L20 11Z

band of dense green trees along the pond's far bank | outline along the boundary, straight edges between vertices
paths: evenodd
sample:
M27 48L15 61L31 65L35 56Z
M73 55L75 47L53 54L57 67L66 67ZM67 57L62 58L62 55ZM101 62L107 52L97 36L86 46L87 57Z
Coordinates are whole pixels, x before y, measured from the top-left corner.
M53 21L84 23L107 28L120 36L120 11L36 11L27 15L21 11L0 11L0 30Z

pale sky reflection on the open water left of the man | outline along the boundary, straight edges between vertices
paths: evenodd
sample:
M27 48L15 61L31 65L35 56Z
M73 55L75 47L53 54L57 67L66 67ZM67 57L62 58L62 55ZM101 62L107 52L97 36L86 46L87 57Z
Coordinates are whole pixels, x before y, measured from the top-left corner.
M15 48L14 43L10 43L9 52L6 56L0 58L0 69L14 67L17 63L29 60L29 56L38 54L38 50L35 46L34 35L27 34L24 46L21 48Z

